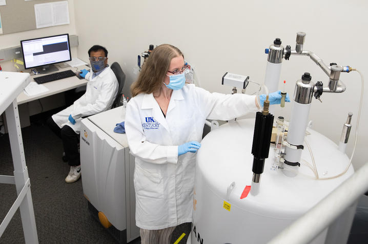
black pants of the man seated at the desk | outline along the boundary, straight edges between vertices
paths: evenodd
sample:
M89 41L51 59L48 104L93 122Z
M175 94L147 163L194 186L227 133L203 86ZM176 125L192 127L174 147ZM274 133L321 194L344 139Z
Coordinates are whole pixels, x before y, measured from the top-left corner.
M46 124L56 136L63 140L64 152L69 165L80 165L80 156L78 152L79 135L68 125L64 125L63 128L60 129L51 117L47 119Z

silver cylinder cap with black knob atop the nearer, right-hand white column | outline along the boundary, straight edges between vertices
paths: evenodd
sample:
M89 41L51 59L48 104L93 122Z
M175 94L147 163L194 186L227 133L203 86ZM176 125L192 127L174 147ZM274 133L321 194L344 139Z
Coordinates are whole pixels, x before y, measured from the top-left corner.
M309 76L310 79L305 79L306 76ZM302 79L296 82L294 90L295 102L301 104L309 104L312 102L314 83L311 82L310 80L311 80L310 74L304 73Z

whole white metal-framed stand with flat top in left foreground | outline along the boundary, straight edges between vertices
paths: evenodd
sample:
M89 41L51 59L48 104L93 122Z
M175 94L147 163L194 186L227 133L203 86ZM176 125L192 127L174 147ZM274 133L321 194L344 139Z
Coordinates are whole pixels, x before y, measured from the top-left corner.
M0 114L5 111L14 165L14 176L0 175L0 183L15 184L18 195L0 224L0 237L19 208L26 243L38 243L31 184L24 155L21 123L19 122L16 100L19 93L23 91L30 81L29 73L0 72Z

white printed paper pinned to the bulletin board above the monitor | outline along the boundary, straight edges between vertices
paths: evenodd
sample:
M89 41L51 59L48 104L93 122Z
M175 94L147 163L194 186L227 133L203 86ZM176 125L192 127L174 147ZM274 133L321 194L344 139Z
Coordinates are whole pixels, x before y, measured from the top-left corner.
M68 1L35 4L36 28L69 24Z

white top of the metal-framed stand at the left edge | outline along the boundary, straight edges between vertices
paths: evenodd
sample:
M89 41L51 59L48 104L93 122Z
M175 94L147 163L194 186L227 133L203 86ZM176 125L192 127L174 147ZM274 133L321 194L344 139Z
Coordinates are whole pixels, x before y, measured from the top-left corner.
M0 72L0 114L14 101L14 99L23 93L22 90L30 82L28 73L19 72Z

